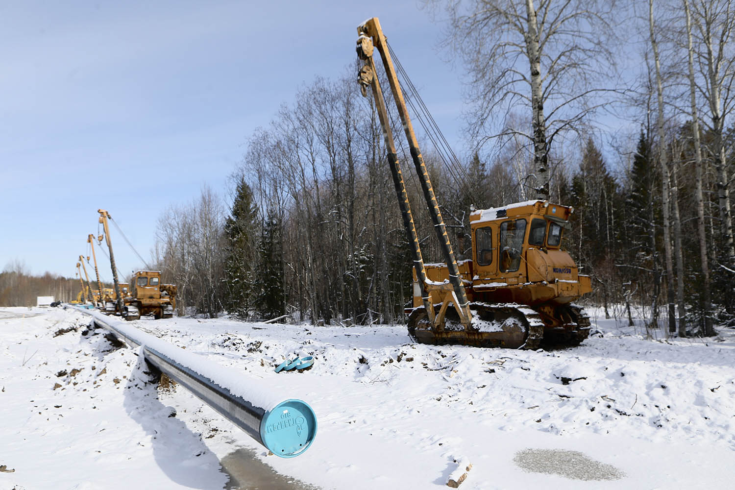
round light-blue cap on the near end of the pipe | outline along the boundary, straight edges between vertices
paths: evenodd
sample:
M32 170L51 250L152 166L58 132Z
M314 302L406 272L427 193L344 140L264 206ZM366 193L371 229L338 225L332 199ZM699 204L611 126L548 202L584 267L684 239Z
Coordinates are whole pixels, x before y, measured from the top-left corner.
M286 400L267 411L260 422L260 439L271 453L293 458L312 445L317 434L317 417L308 403Z

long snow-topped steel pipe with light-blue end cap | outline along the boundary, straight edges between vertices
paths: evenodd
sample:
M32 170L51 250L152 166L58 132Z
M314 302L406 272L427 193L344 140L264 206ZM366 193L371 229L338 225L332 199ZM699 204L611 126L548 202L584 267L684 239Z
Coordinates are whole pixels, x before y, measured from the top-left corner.
M243 379L240 373L128 323L98 311L71 308L91 315L98 327L112 332L131 347L140 347L148 363L196 394L273 454L293 458L312 444L317 419L308 403L293 398L283 400L273 394L265 381Z

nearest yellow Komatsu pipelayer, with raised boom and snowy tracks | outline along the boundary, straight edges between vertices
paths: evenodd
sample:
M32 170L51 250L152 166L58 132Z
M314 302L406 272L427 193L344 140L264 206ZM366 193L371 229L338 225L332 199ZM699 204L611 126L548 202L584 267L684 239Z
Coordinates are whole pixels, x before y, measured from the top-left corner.
M589 317L572 302L592 290L569 253L560 250L571 207L526 201L473 211L472 259L457 262L447 236L429 173L406 109L378 18L357 28L357 54L363 65L362 94L373 90L387 147L388 163L409 237L414 262L414 308L408 329L422 343L454 343L535 349L542 339L578 345L589 334ZM383 61L413 163L439 238L445 263L424 264L401 165L395 151L373 51ZM453 309L448 309L452 305Z

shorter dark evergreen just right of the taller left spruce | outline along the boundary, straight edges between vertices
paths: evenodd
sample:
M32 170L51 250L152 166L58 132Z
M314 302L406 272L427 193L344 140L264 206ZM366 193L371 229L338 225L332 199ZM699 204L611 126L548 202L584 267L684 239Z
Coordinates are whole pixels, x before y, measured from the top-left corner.
M269 212L258 244L258 263L255 271L255 309L262 317L275 318L286 309L284 293L284 260L282 221L275 212Z

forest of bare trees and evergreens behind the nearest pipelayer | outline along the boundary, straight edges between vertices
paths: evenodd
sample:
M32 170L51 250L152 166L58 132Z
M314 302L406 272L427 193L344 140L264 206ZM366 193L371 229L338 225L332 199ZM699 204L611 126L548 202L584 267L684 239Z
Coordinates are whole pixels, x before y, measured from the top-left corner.
M464 68L462 153L437 140L399 78L427 128L420 146L456 253L470 255L470 206L562 203L575 209L564 248L592 277L581 303L624 319L637 309L679 336L734 325L733 7L427 1L444 54ZM247 137L228 188L205 185L159 217L152 262L177 284L180 314L404 322L410 248L356 74L304 83ZM396 143L424 257L438 262L409 148Z

